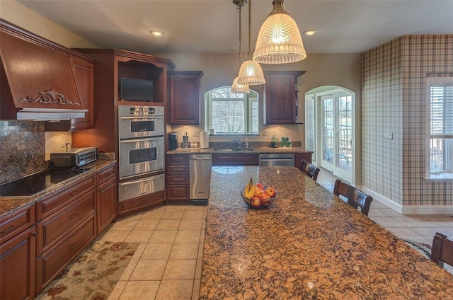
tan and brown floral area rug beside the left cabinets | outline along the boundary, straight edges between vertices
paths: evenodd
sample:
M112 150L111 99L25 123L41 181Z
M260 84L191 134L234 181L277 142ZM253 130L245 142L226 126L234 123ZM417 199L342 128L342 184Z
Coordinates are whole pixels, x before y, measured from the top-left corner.
M35 299L108 299L138 246L139 243L92 243Z

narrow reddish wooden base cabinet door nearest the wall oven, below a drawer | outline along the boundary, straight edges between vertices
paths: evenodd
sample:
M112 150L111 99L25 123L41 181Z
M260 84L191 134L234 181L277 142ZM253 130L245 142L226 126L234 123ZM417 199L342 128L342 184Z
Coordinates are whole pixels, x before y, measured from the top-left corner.
M115 177L98 186L96 197L98 234L116 217L116 180Z

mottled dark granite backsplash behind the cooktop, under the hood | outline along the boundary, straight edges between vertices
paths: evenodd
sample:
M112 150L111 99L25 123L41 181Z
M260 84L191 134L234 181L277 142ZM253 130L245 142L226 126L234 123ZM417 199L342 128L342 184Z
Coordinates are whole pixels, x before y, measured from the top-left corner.
M45 123L0 120L0 183L45 168Z

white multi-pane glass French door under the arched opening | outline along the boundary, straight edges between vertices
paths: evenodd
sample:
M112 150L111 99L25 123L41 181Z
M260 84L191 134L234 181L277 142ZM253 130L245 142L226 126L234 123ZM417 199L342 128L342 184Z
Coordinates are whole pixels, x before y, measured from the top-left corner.
M348 182L352 180L352 96L321 96L321 166Z

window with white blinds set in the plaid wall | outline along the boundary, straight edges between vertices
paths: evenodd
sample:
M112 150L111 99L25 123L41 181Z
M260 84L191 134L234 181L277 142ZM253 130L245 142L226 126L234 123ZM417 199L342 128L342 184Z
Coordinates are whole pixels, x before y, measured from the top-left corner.
M453 78L428 78L427 98L427 177L453 180Z

